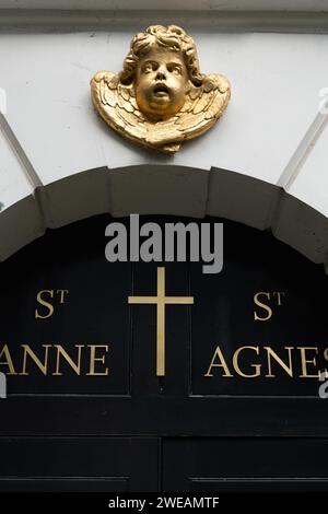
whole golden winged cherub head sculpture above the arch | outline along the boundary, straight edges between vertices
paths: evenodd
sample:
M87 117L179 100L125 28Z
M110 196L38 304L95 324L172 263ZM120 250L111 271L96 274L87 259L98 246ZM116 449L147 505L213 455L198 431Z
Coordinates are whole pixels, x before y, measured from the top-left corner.
M231 95L225 77L200 73L195 42L176 25L152 25L137 34L122 71L99 71L91 91L113 129L169 153L211 128Z

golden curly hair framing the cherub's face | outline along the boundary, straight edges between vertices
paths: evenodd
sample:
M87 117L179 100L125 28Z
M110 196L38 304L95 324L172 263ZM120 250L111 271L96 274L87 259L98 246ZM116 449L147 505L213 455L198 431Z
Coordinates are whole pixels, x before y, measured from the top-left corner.
M177 25L151 25L145 32L137 34L131 40L130 52L124 61L120 81L129 84L133 81L140 57L148 54L152 46L159 45L183 54L190 81L199 86L204 75L200 73L196 45L192 37Z

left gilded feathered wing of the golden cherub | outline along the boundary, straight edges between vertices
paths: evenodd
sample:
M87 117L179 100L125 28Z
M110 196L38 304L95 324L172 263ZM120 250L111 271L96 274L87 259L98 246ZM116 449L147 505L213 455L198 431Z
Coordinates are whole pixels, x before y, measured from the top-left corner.
M112 128L130 139L145 140L144 117L132 85L121 84L110 71L99 71L91 81L91 94L96 110Z

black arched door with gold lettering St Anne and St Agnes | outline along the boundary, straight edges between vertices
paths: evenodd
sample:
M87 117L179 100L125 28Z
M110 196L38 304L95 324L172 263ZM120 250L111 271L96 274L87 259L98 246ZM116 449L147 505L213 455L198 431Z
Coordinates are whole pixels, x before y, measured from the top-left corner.
M8 378L0 490L327 491L323 269L270 234L231 222L222 273L204 276L198 262L109 264L109 221L49 231L0 265L0 372ZM195 297L192 308L166 307L163 377L156 309L128 303L156 294L160 266L168 295ZM68 301L57 295L54 315L36 318L36 308L49 313L38 292L52 302L49 291L62 289ZM285 303L271 303L270 319L257 322L255 308L261 317L269 311L254 295L269 291L285 292Z

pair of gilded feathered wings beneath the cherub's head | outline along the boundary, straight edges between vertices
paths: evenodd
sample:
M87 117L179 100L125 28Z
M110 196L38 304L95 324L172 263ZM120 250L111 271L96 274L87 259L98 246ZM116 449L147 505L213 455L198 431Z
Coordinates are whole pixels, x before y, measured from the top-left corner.
M91 81L93 104L102 118L125 137L164 152L175 153L183 141L206 132L220 118L230 98L223 75L207 75L191 86L183 108L172 118L153 122L136 101L134 86L121 84L119 75L99 71Z

